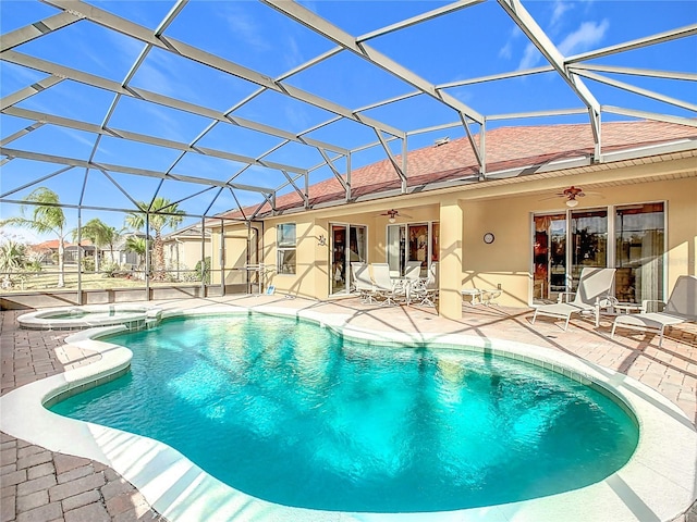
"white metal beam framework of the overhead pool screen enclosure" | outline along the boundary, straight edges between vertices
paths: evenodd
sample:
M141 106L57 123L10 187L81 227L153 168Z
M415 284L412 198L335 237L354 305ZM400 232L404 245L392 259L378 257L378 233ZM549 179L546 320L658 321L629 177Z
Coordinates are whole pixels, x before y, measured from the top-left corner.
M568 115L586 115L587 124L591 129L595 142L595 151L591 157L587 158L588 164L602 163L603 162L603 147L602 135L600 132L600 122L603 114L622 115L632 119L646 119L661 122L676 123L681 125L687 125L692 127L697 126L697 120L694 117L675 116L656 112L648 112L643 110L636 110L632 108L621 108L606 105L601 103L601 100L592 92L586 85L586 79L591 79L596 83L609 85L617 89L622 89L633 95L646 97L651 100L657 100L670 105L680 108L683 111L697 112L697 104L690 100L680 100L672 98L662 92L650 91L629 83L619 82L607 74L623 74L629 77L644 76L656 77L663 79L681 80L681 82L697 82L697 74L692 72L668 72L657 70L641 70L636 67L622 67L598 64L595 61L604 57L616 57L623 53L641 49L650 46L657 46L663 42L677 40L682 38L695 38L697 37L697 24L688 25L685 27L676 27L674 29L647 35L646 37L625 41L623 44L613 45L606 48L596 49L594 51L585 52L577 55L563 55L558 47L554 46L551 38L535 21L535 18L527 11L526 7L521 0L497 0L496 2L490 0L491 3L496 3L515 24L517 28L525 35L527 40L531 42L537 50L547 60L547 64L534 69L523 71L511 71L508 73L496 74L491 76L470 77L457 82L450 82L445 84L436 85L426 78L417 75L406 66L398 63L391 58L380 53L375 47L370 45L371 40L379 39L386 35L393 34L395 32L409 30L418 24L426 23L430 20L449 16L455 12L473 9L475 5L484 3L486 0L457 0L444 5L440 5L430 11L424 12L419 15L401 20L398 23L390 24L389 26L372 30L368 34L354 36L338 26L330 23L310 11L308 8L294 2L285 0L260 0L260 2L283 16L302 24L309 28L315 34L321 36L332 44L333 47L327 52L323 52L299 66L296 66L278 77L271 78L260 71L243 66L239 63L232 62L220 55L212 54L200 48L187 45L183 41L176 40L168 36L168 28L171 24L182 14L185 10L188 0L178 0L173 2L171 10L161 20L155 30L149 29L143 25L138 25L132 21L119 17L109 11L99 7L73 0L44 0L44 3L56 8L57 14L42 18L30 25L22 27L16 30L12 30L2 35L0 59L27 67L34 71L41 72L46 76L23 89L20 89L9 96L5 96L0 100L0 112L9 116L15 116L28 120L33 122L25 128L12 134L11 136L3 136L0 147L0 154L3 159L0 161L0 166L11 162L15 159L23 159L28 161L45 162L50 164L61 165L60 169L49 173L48 175L34 181L29 184L15 187L8 191L0 194L0 202L12 204L33 204L23 200L13 198L16 192L34 185L38 185L41 182L49 179L53 176L64 173L66 170L78 170L85 173L83 182L83 195L76 206L78 213L82 210L113 210L121 212L133 212L137 210L137 203L135 198L130 194L130 187L123 186L118 183L109 173L122 173L135 176L143 176L148 178L159 179L159 184L152 201L158 197L160 188L166 181L183 182L200 186L200 190L189 196L193 198L201 194L209 194L211 196L210 203L201 212L196 214L186 214L200 219L201 223L206 220L215 217L218 213L212 212L213 203L220 197L222 192L228 192L236 202L236 211L240 220L243 222L252 223L266 215L277 215L284 211L277 209L276 200L279 195L289 190L295 191L303 201L302 210L311 210L313 208L320 208L328 204L345 204L355 202L358 198L352 195L352 157L363 150L377 148L382 150L384 158L390 161L394 169L396 178L401 182L401 188L398 191L390 192L376 192L369 197L362 197L365 199L377 199L382 197L392 196L395 194L407 194L409 187L407 184L406 172L408 140L411 137L418 136L426 133L448 130L451 128L457 128L464 132L464 135L468 138L469 147L477 161L477 174L465 176L454 182L454 185L468 185L477 183L486 183L489 179L496 178L496 173L487 171L487 125L490 122L499 121L523 121L531 117L554 117L554 116L568 116ZM108 30L125 35L138 45L143 46L142 51L137 59L132 64L130 71L121 82L115 82L106 77L97 76L94 74L85 73L61 65L57 62L38 59L28 54L22 53L20 50L22 45L30 42L35 39L41 38L45 35L53 32L59 32L64 27L73 24L97 24ZM182 99L174 97L168 97L158 92L148 91L142 88L130 85L131 79L137 73L139 67L146 61L148 54L154 50L166 51L173 53L176 57L194 61L206 67L216 70L219 73L233 76L235 78L242 78L257 86L256 90L244 99L239 100L235 104L228 110L220 111L210 107L197 105ZM392 77L404 83L411 89L406 94L386 99L377 103L371 103L365 107L344 107L328 99L321 98L310 91L294 87L288 79L293 75L302 73L311 69L315 65L322 63L342 52L352 53L358 57L372 67L387 72ZM484 114L476 109L468 107L460 101L457 98L449 92L449 89L462 87L466 85L475 84L489 84L502 79L510 79L521 76L534 76L538 74L553 74L561 78L570 91L576 97L578 107L571 109L558 109L549 111L528 111L506 114ZM87 121L81 121L75 119L68 119L63 116L39 113L37 111L30 111L17 107L23 100L35 96L46 89L51 89L53 86L61 84L64 80L72 80L87 86L96 87L106 90L111 94L112 102L109 110L103 114L103 119L100 124L89 123ZM268 125L258 121L241 117L235 114L241 108L245 107L253 99L266 91L273 91L284 97L289 97L295 101L319 108L327 111L333 116L320 124L313 125L299 133L290 132L288 129ZM421 128L398 128L391 124L381 122L374 117L368 116L366 113L372 109L387 107L400 101L407 100L414 97L428 97L435 100L440 105L452 111L453 120L451 123L421 127ZM204 128L195 139L183 142L170 139L163 139L151 135L138 134L129 132L125 129L113 128L110 125L111 116L119 105L119 103L126 98L136 99L147 103L154 103L164 108L169 108L175 111L184 111L189 114L203 116L209 121L206 128ZM309 136L314 130L331 125L338 121L350 121L362 126L365 126L371 130L375 135L375 140L365 142L358 147L348 147L342 144L329 142L326 140L318 140ZM35 132L44 125L53 125L66 129L74 129L88 133L94 136L94 145L88 156L82 158L71 158L60 154L46 154L33 150L23 150L13 147L13 141ZM257 133L271 136L279 139L278 144L271 149L261 154L240 154L233 153L228 150L212 149L203 147L199 141L216 126L218 125L234 125L250 129ZM478 134L478 139L475 139L475 135ZM178 151L178 158L170 166L163 171L155 171L142 167L126 166L120 164L108 164L103 162L95 161L95 154L99 147L100 141L105 136L110 138L123 139L132 141L134 144L145 144L149 146L162 147ZM399 145L401 153L398 156L393 153L394 144ZM319 152L322 161L314 166L306 167L301 164L294 164L292 162L274 162L268 159L268 157L285 147L289 144L299 145L302 147L309 147ZM241 170L233 173L227 179L213 179L205 176L189 175L189 174L175 174L173 170L180 163L180 161L187 154L201 154L205 157L212 157L221 160L231 160L244 165ZM339 163L344 162L345 170L342 172ZM283 182L278 186L262 186L250 185L236 181L239 176L250 166L261 166L265 169L271 169L282 174ZM340 201L325 202L313 204L309 200L309 176L311 173L319 169L328 167L333 176L339 181L343 188L343 198ZM90 206L83 201L85 191L85 184L90 171L98 171L107 176L121 194L123 194L132 203L133 208L111 208L111 207L96 207ZM419 190L428 189L420 187ZM240 200L241 192L250 192L257 195L258 204L248 206L242 204ZM178 201L184 202L186 199ZM71 206L63 204L64 208L71 208ZM269 210L270 209L270 210ZM299 210L299 209L294 209ZM230 214L228 214L230 215Z

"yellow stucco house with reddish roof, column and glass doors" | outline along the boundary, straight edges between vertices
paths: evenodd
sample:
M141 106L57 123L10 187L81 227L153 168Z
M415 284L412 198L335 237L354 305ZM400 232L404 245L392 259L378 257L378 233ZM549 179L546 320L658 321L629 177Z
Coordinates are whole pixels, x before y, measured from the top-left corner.
M482 173L467 138L439 140L407 153L403 177L395 157L311 185L306 201L280 196L258 223L213 228L212 250L240 259L213 256L212 271L232 281L258 248L265 286L327 299L350 295L351 260L396 273L437 262L448 318L463 288L500 286L498 302L527 307L575 287L583 266L616 268L621 301L664 299L695 274L697 128L604 123L601 144L598 157L587 125L488 130Z

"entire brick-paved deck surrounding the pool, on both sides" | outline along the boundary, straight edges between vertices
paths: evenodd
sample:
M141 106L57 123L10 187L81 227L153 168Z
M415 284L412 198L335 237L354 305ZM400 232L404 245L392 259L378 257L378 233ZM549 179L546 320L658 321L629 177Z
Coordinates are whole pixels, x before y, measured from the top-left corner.
M463 304L462 319L449 321L439 318L433 309L380 308L362 304L353 298L319 302L283 296L230 296L147 304L163 310L196 311L220 306L229 306L231 310L272 306L347 315L353 326L388 335L396 332L461 334L537 345L626 374L659 391L697 423L697 326L694 324L673 328L659 349L653 334L625 330L617 331L611 339L611 318L603 318L599 328L595 328L590 320L576 318L568 331L563 332L560 322L547 318L539 318L531 325L530 309L498 306ZM21 330L16 318L26 312L0 312L2 395L100 358L64 345L63 339L71 332ZM4 433L0 442L0 522L166 520L134 486L97 461L52 452ZM674 521L697 522L697 504Z

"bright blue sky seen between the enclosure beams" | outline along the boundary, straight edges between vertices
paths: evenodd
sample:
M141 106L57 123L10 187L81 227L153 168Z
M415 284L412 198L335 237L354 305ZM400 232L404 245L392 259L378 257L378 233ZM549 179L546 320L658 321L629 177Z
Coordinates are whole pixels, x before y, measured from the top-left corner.
M150 30L160 24L173 4L169 1L138 0L89 3ZM445 4L436 1L331 0L301 3L353 37L366 35ZM697 23L697 2L692 0L524 1L524 5L566 57ZM56 8L37 1L2 0L2 34L58 12ZM335 47L331 41L286 18L274 9L254 1L191 1L167 28L164 35L271 78L279 78ZM368 45L435 85L547 64L535 46L492 0L371 39ZM124 80L143 48L142 42L127 36L107 30L90 22L81 22L22 45L14 51L120 83ZM697 74L697 37L606 57L594 63ZM42 72L8 61L0 62L0 75L3 97L47 76ZM695 82L621 74L607 76L693 104L697 103ZM346 51L283 82L351 110L414 90L401 79ZM584 82L601 104L695 117L693 111L671 103L626 92L592 79ZM249 82L222 74L161 49L149 52L144 64L130 80L130 86L180 98L216 111L231 109L258 89ZM449 88L447 92L486 115L583 107L568 86L553 73ZM64 80L23 100L16 107L100 125L105 122L113 100L112 92ZM451 110L425 96L371 109L364 114L404 130L456 122ZM278 92L266 91L234 111L233 116L291 133L301 133L329 121L333 114ZM603 117L604 121L626 120L612 115ZM501 125L570 122L585 123L587 116L501 120L490 122L488 128ZM0 115L2 138L5 139L32 123L24 117ZM122 97L108 121L108 126L188 144L209 123L209 119L200 115ZM475 126L473 129L478 128ZM424 147L444 135L456 138L463 135L463 130L455 127L417 135L409 138L408 147ZM350 149L377 140L371 129L350 121L327 125L309 133L308 136ZM258 157L277 147L280 141L278 137L234 125L217 125L198 145L246 157ZM95 134L44 125L7 144L7 147L80 159L89 158L94 153L94 160L101 163L158 172L171 169L173 173L217 181L227 181L237 174L236 182L255 186L277 187L285 181L283 174L276 170L261 166L244 169L239 162L200 154L186 154L178 161L178 151L127 142L115 137L103 137L97 148L95 144ZM394 152L400 152L396 142L392 147ZM383 158L384 152L379 147L372 147L354 154L352 165L357 167ZM315 167L322 162L321 154L315 148L299 144L284 146L270 153L267 159L303 169ZM343 172L345 161L338 161L337 167ZM61 165L15 159L0 169L1 192L5 194L33 179L57 172ZM244 172L240 174L241 171ZM109 172L107 176L99 171L90 171L85 184L86 175L82 167L71 169L39 185L58 191L61 201L65 203L77 204L82 198L85 204L110 208L133 207L118 185L124 187L136 200L149 200L159 185L156 178L115 172ZM328 176L331 176L330 170L326 166L319 167L313 171L310 183ZM8 199L20 200L33 188L35 187L17 190L8 196ZM159 195L176 201L195 195L200 189L201 187L194 184L167 181L162 184ZM209 213L235 207L235 201L228 191L213 198L216 194L217 189L208 190L186 199L180 208L199 214L209 206ZM258 195L253 192L240 191L236 196L242 204L259 201ZM3 204L0 214L7 217L16 214L17 211L17 206ZM75 226L77 212L66 210L66 213L70 226ZM117 227L123 224L121 212L85 210L82 220L84 222L94 216L99 216ZM187 220L186 224L198 220Z

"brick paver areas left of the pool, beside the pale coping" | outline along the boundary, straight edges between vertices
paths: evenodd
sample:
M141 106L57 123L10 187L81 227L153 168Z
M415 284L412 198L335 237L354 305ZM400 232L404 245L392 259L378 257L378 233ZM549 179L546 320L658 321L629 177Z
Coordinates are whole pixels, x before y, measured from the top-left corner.
M0 312L2 394L95 359L66 349L65 332L21 330L20 313L26 311ZM0 433L0 522L164 521L115 471L4 433Z

